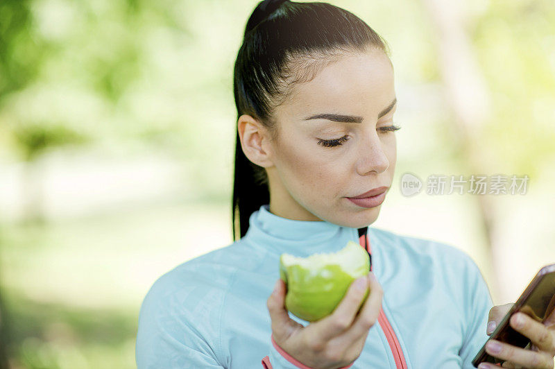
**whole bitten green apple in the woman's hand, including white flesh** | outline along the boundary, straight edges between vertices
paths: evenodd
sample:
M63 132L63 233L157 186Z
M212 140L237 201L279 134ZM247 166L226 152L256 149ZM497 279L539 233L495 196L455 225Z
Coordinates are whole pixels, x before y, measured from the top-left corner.
M303 320L319 320L332 314L350 284L368 271L368 252L353 241L338 252L309 257L282 254L280 277L287 285L285 307ZM368 289L361 305L367 297Z

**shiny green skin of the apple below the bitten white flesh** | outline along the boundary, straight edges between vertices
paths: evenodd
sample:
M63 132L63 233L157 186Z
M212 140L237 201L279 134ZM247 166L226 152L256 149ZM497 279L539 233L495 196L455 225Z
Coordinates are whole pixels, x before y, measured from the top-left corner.
M302 320L314 322L332 314L341 302L349 286L358 277L370 271L368 252L361 246L360 257L365 258L355 271L347 273L338 264L325 264L315 271L309 271L298 264L284 266L280 258L280 278L287 285L285 307ZM355 276L354 276L355 275ZM359 309L368 298L366 289Z

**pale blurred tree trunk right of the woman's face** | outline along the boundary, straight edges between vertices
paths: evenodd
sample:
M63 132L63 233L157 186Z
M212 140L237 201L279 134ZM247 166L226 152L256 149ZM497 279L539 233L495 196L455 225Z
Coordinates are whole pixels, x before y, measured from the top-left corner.
M477 146L482 126L490 117L490 92L472 50L472 42L466 32L466 15L458 0L425 0L429 19L436 28L439 68L445 86L447 101L454 117L454 126L466 170L473 174L488 173L483 160L484 152ZM495 264L499 250L496 228L495 203L491 195L472 196L477 200L488 262L493 266L493 290L499 291L498 268Z

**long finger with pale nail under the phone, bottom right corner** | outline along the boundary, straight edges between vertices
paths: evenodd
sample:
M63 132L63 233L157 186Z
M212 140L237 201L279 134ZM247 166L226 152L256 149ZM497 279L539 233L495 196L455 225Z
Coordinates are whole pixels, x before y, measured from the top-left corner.
M498 344L498 349L495 349L495 344ZM524 366L524 368L543 369L553 367L553 358L549 357L545 352L524 350L521 347L497 340L490 340L486 343L486 352L498 359L511 361L517 367Z

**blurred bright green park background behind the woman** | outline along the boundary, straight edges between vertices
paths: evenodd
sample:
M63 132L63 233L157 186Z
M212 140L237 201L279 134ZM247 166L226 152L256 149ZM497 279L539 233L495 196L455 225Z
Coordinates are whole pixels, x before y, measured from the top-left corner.
M552 0L330 3L392 51L402 130L373 226L465 250L495 304L514 302L555 262ZM231 243L232 69L256 4L0 2L0 346L12 368L134 368L156 278ZM524 195L404 197L407 172L530 180Z

